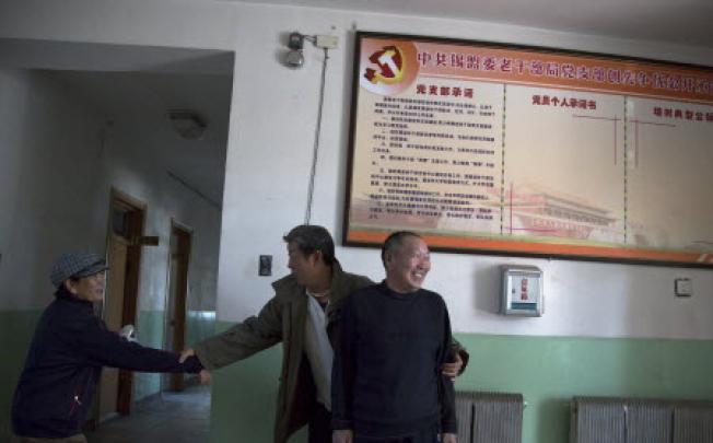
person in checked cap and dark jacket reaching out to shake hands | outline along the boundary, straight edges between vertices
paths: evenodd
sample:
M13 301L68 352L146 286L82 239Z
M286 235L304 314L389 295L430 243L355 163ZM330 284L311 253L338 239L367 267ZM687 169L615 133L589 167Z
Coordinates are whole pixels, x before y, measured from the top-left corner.
M196 358L144 348L106 329L92 304L104 295L104 260L65 254L50 280L55 300L43 313L12 401L13 443L85 443L81 433L103 366L198 373Z

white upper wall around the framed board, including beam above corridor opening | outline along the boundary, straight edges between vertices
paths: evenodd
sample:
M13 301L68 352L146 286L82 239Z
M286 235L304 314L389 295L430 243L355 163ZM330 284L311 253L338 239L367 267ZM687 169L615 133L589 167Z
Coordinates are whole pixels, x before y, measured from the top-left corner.
M37 11L42 11L38 13ZM305 50L302 70L279 65L281 33L334 33L317 167L314 223L341 237L351 88L351 30L416 33L519 43L713 65L713 50L619 40L493 23L351 13L308 8L202 1L31 0L0 7L0 35L118 44L233 49L236 53L219 276L219 318L255 313L271 295L257 277L259 254L287 272L281 236L303 220L320 51ZM710 200L710 194L701 201ZM339 248L349 270L381 278L376 250ZM495 266L545 269L547 312L539 319L493 314ZM676 277L693 279L694 295L674 300ZM713 338L713 273L594 263L434 254L428 285L446 299L456 331L574 336Z

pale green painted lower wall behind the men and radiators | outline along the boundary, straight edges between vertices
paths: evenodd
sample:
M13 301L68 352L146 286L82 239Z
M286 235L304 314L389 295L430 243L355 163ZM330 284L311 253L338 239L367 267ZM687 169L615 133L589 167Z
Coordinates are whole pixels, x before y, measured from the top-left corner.
M224 330L230 324L219 323ZM713 341L457 334L471 355L461 390L522 393L524 443L566 443L573 396L713 399ZM214 373L211 442L269 442L276 346ZM292 442L306 442L301 432Z

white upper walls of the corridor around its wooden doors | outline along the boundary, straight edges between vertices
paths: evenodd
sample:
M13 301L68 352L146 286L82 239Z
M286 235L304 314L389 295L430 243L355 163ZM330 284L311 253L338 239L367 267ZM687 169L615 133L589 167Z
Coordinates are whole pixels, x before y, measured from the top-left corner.
M45 306L60 253L105 253L112 187L148 205L160 236L142 252L139 311L164 310L172 218L194 229L188 308L214 308L220 210L147 160L149 133L104 120L48 71L0 70L0 310Z

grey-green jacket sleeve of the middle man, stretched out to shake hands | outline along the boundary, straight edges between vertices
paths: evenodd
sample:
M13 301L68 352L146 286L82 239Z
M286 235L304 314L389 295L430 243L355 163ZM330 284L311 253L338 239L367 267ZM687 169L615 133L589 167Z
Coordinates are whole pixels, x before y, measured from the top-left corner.
M196 355L206 369L214 370L280 342L283 307L283 303L272 298L257 316L194 346Z

